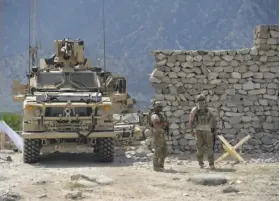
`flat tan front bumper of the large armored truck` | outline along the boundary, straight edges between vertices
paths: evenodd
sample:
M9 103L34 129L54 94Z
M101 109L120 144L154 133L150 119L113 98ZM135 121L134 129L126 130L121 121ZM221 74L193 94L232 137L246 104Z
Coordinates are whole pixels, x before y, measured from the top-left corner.
M82 132L82 135L87 135L87 133ZM54 139L54 138L79 138L77 132L22 132L22 137L24 139ZM105 138L112 137L116 138L117 133L114 130L110 131L93 131L89 134L87 138Z

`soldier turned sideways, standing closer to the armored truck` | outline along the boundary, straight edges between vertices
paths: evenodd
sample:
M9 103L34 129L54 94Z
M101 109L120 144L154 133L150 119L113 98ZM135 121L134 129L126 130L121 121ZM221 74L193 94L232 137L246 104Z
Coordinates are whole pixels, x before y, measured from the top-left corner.
M164 121L162 114L160 114L161 111L162 105L156 102L153 104L153 111L148 117L155 149L153 158L154 171L164 170L164 161L167 156L167 145L164 137L165 131L163 129L167 125L167 122Z

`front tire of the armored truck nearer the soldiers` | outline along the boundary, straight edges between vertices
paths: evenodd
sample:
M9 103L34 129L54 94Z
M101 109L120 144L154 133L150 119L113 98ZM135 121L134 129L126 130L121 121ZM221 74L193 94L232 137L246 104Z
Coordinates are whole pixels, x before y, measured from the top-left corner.
M110 137L98 139L95 154L98 162L113 162L115 154L114 139Z

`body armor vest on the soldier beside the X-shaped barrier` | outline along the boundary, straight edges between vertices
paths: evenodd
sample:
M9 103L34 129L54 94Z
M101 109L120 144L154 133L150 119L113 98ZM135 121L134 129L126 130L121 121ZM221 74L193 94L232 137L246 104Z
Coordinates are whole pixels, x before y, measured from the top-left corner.
M197 131L211 132L212 117L208 109L197 110L195 119Z

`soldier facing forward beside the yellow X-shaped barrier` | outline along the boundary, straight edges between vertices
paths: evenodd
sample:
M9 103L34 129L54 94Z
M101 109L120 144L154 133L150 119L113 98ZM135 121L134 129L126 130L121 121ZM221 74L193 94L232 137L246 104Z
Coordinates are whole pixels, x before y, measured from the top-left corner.
M201 168L203 163L203 145L207 146L208 162L211 169L214 169L214 149L213 142L215 137L213 134L216 130L216 120L211 108L207 106L204 94L196 97L196 107L190 114L189 126L193 135L196 135L197 160ZM195 126L193 126L195 124Z

